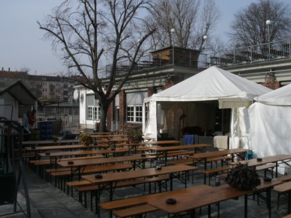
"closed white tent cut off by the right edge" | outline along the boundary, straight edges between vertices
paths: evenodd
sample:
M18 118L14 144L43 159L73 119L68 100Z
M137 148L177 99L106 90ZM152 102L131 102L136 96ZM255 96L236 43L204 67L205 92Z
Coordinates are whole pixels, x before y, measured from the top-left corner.
M256 156L291 154L291 84L254 99L248 109L239 110L245 121L239 128Z

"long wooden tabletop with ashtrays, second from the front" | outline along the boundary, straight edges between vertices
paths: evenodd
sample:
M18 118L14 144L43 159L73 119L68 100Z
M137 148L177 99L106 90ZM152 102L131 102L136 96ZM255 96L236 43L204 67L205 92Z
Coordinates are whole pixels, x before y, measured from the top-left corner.
M99 159L100 160L100 159ZM86 179L91 183L109 183L114 181L129 180L129 179L138 179L148 176L159 176L163 174L171 174L175 172L188 172L190 170L196 170L197 167L189 165L171 165L162 167L161 170L156 170L155 168L148 168L144 170L134 170L134 171L125 171L125 172L114 172L103 174L103 178L96 179L95 174L89 174L82 176L82 179Z

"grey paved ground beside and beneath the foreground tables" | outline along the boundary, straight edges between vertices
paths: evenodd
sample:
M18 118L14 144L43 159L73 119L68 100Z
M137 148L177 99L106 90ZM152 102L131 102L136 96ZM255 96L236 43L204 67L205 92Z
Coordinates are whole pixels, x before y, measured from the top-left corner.
M64 193L59 188L56 188L53 184L44 181L44 179L39 178L35 172L26 167L26 176L28 181L30 204L31 204L31 217L45 217L45 218L73 218L73 217L97 217L95 212L91 212L90 204L89 208L85 208L78 202L78 197L76 192L74 192L74 197ZM223 181L222 181L223 182ZM194 183L188 181L188 187L193 185L200 185L203 183L202 176L198 173L194 175ZM212 182L214 183L214 182ZM174 189L184 188L181 183L174 183ZM114 199L132 197L138 194L144 194L143 185L137 185L135 188L121 188L116 190ZM18 202L19 206L25 210L26 204L24 199L23 190L19 191ZM89 194L88 194L89 199ZM108 196L105 196L101 201L107 201ZM197 199L199 201L199 199ZM287 215L287 197L281 197L281 206L278 211L276 208L277 194L272 191L272 217L283 217ZM89 203L89 200L88 200ZM0 206L0 217L26 217L21 209L17 208L17 213L7 215L13 212L12 205ZM217 207L212 206L211 217L217 216ZM220 217L233 218L233 217L243 217L244 212L244 199L241 197L238 200L229 200L220 203ZM261 201L253 201L249 199L249 213L248 217L267 217L266 204ZM109 217L107 211L101 211L101 218ZM146 217L167 217L164 212L152 212ZM185 215L184 217L188 217ZM196 217L208 217L207 208L202 208L201 214L197 210Z

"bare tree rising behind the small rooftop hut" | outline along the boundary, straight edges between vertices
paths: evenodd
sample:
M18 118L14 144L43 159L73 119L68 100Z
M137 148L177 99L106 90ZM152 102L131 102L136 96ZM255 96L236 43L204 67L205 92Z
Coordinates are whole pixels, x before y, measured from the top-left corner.
M152 46L157 48L175 44L202 51L203 36L211 35L220 16L213 0L155 1L148 17L150 23L157 26L157 31L152 35ZM172 28L175 29L174 34L171 33Z

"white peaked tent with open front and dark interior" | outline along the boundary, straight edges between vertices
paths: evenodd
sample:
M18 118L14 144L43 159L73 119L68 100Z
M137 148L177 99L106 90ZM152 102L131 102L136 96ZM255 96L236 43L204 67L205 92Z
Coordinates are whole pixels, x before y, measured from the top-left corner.
M169 135L177 136L179 122L176 121L182 113L186 114L184 125L200 126L203 131L213 130L218 102L220 108L247 107L256 96L269 91L260 84L211 66L145 98L148 120L143 122L144 135L157 138L158 129L164 129Z

